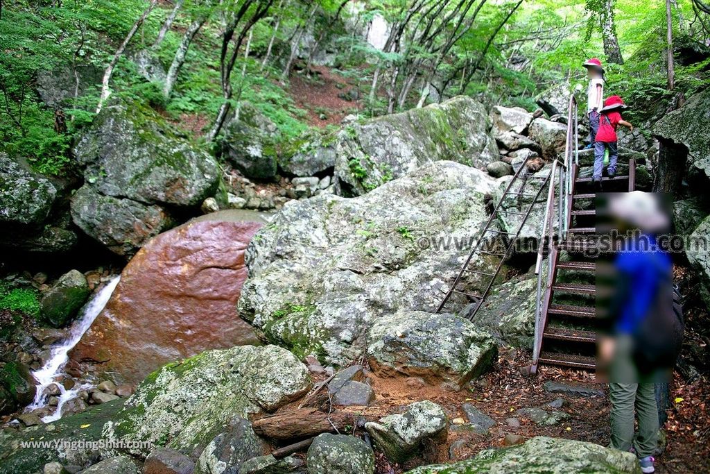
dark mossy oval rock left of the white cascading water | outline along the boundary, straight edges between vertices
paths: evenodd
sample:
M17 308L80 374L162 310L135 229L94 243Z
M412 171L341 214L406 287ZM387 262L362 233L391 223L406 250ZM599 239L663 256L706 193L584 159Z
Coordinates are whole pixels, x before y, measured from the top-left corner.
M59 277L41 301L42 315L55 327L69 323L89 298L89 284L78 270Z

